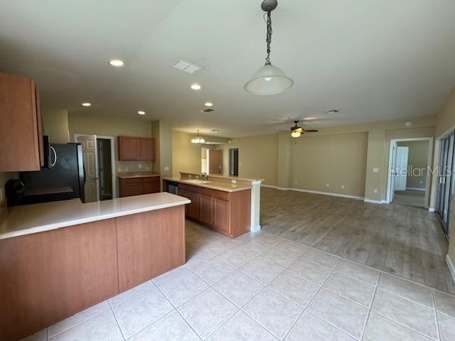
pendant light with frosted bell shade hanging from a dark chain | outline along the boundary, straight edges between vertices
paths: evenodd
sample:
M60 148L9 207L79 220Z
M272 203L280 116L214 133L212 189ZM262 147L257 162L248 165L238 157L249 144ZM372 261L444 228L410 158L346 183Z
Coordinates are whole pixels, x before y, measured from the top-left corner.
M264 18L267 16L267 58L265 58L265 65L255 72L251 80L243 87L247 92L253 94L279 94L288 90L294 85L294 80L287 77L287 75L277 66L272 65L270 62L270 45L272 44L272 11L278 6L277 0L264 0L262 1L262 11L266 12Z

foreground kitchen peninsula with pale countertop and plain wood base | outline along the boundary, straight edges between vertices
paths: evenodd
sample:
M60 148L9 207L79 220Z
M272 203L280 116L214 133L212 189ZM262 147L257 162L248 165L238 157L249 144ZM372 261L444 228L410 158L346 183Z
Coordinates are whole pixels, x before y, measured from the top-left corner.
M185 263L185 206L170 193L0 213L0 340L18 340Z

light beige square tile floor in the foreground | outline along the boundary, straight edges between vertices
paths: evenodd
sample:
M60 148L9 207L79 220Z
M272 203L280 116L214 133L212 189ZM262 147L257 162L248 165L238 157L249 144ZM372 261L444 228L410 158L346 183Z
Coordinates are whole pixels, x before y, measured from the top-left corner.
M455 340L455 296L267 232L187 222L185 266L25 340Z

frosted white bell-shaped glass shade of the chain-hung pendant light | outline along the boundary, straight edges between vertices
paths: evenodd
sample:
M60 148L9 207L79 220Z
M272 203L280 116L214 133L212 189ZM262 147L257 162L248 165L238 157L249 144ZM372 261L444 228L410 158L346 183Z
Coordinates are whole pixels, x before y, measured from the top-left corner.
M252 94L279 94L294 85L294 80L287 77L282 69L266 64L255 72L251 80L243 87Z

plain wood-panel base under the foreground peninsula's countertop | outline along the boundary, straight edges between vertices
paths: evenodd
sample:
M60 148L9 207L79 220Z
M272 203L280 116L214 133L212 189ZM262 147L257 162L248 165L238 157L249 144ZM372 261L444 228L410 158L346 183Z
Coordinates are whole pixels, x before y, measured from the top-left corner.
M14 341L185 263L183 205L0 240L0 340Z

